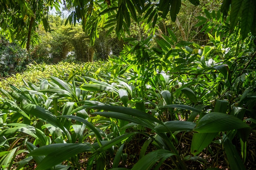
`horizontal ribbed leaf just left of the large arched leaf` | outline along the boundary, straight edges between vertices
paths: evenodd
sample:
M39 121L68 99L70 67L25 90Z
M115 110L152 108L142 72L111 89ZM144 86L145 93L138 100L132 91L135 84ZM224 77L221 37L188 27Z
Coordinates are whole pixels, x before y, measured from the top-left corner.
M164 125L157 125L155 130L157 132L173 132L173 131L192 131L195 128L196 123L191 121L166 121Z

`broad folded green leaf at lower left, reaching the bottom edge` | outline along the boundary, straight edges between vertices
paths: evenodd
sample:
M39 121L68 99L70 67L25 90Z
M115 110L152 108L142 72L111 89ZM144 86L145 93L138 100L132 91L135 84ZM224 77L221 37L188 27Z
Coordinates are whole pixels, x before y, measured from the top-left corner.
M42 146L29 153L28 156L45 155L45 158L38 163L36 170L51 168L78 153L92 151L93 147L89 143L80 144L50 144Z

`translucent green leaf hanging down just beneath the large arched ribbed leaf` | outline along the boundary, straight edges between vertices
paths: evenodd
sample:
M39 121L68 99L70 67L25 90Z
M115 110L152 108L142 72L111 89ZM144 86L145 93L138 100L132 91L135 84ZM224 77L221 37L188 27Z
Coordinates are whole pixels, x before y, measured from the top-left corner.
M190 152L193 155L198 155L204 148L206 148L218 133L194 133L191 143Z

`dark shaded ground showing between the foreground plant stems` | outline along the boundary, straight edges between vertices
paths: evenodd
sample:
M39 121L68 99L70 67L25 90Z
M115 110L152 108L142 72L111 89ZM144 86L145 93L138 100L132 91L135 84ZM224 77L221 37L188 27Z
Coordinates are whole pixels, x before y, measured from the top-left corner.
M177 149L180 152L180 155L187 156L184 158L184 162L188 170L206 170L207 168L220 168L222 170L229 170L229 165L227 162L227 158L224 154L224 148L220 144L211 144L210 147L203 150L199 155L193 157L190 154L190 146L192 141L193 133L180 133L177 135L177 138L180 138L179 143L177 144ZM133 137L125 146L124 146L124 153L127 154L126 162L120 162L119 167L125 167L131 169L133 165L138 161L139 154L142 145L146 141L145 138L137 135ZM239 142L236 140L233 141L238 145ZM236 148L240 148L240 146L236 146ZM152 152L156 150L155 146L150 144L148 146L148 150L146 153ZM238 149L239 150L239 149ZM86 164L88 157L90 154L82 153L80 164L81 170L86 170ZM12 170L16 169L16 163L25 158L24 154L20 154L16 156L15 163L13 164ZM247 140L247 157L246 157L246 169L247 170L256 170L256 132L252 131ZM110 160L110 169L112 166L113 159ZM159 170L171 170L174 169L175 165L173 165L173 160L171 158L166 159ZM36 162L32 159L26 166L25 170L35 170L36 169Z

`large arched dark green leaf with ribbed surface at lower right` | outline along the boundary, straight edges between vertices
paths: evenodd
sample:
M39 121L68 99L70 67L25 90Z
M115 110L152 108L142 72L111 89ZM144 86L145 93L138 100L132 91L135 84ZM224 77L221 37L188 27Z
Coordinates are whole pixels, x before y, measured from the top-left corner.
M213 112L202 117L198 121L194 131L200 133L213 133L241 128L250 127L237 117L225 113Z

